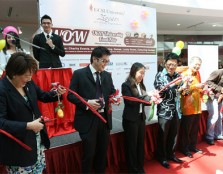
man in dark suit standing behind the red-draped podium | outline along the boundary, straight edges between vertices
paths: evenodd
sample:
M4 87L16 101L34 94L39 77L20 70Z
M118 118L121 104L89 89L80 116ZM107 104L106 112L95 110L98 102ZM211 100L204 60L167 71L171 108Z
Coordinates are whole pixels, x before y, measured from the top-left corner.
M41 18L41 26L44 31L33 39L33 44L40 47L33 47L33 55L39 61L39 68L62 67L59 56L64 57L65 50L61 37L52 32L51 17L44 15Z

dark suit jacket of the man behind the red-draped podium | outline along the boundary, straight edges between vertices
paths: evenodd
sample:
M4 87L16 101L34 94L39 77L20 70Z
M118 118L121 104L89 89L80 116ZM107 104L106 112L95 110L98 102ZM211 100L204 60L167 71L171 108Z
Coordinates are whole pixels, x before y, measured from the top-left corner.
M63 42L60 36L52 33L51 39L53 41L53 44L55 45L55 48L52 49L47 43L46 43L46 37L44 33L37 34L33 39L33 44L44 48L38 49L36 47L33 47L33 55L36 60L39 61L39 67L40 68L59 68L62 67L60 57L65 56L65 50L63 46Z

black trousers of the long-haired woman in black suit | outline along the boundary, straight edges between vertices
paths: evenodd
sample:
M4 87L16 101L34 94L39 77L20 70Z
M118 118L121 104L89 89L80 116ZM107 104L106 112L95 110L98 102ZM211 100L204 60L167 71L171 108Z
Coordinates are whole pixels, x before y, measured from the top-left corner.
M136 121L123 119L126 161L129 173L143 173L145 119L139 114Z

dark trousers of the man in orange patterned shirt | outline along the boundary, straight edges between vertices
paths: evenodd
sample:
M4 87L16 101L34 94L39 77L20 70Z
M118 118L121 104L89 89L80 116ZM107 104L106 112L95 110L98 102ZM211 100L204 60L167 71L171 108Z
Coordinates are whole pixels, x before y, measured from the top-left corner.
M183 115L180 123L180 150L188 152L196 148L197 135L199 131L199 121L201 114Z

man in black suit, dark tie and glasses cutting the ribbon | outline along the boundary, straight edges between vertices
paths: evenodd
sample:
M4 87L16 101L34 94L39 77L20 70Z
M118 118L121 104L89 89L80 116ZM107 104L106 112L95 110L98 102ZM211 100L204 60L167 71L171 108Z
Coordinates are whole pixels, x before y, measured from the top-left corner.
M83 144L82 173L91 173L92 165L95 173L105 173L112 128L108 101L109 96L115 92L111 74L104 71L110 55L107 48L96 47L91 53L91 64L74 71L70 83L70 89L83 97L107 120L105 124L78 98L68 94L68 100L76 105L74 127Z

